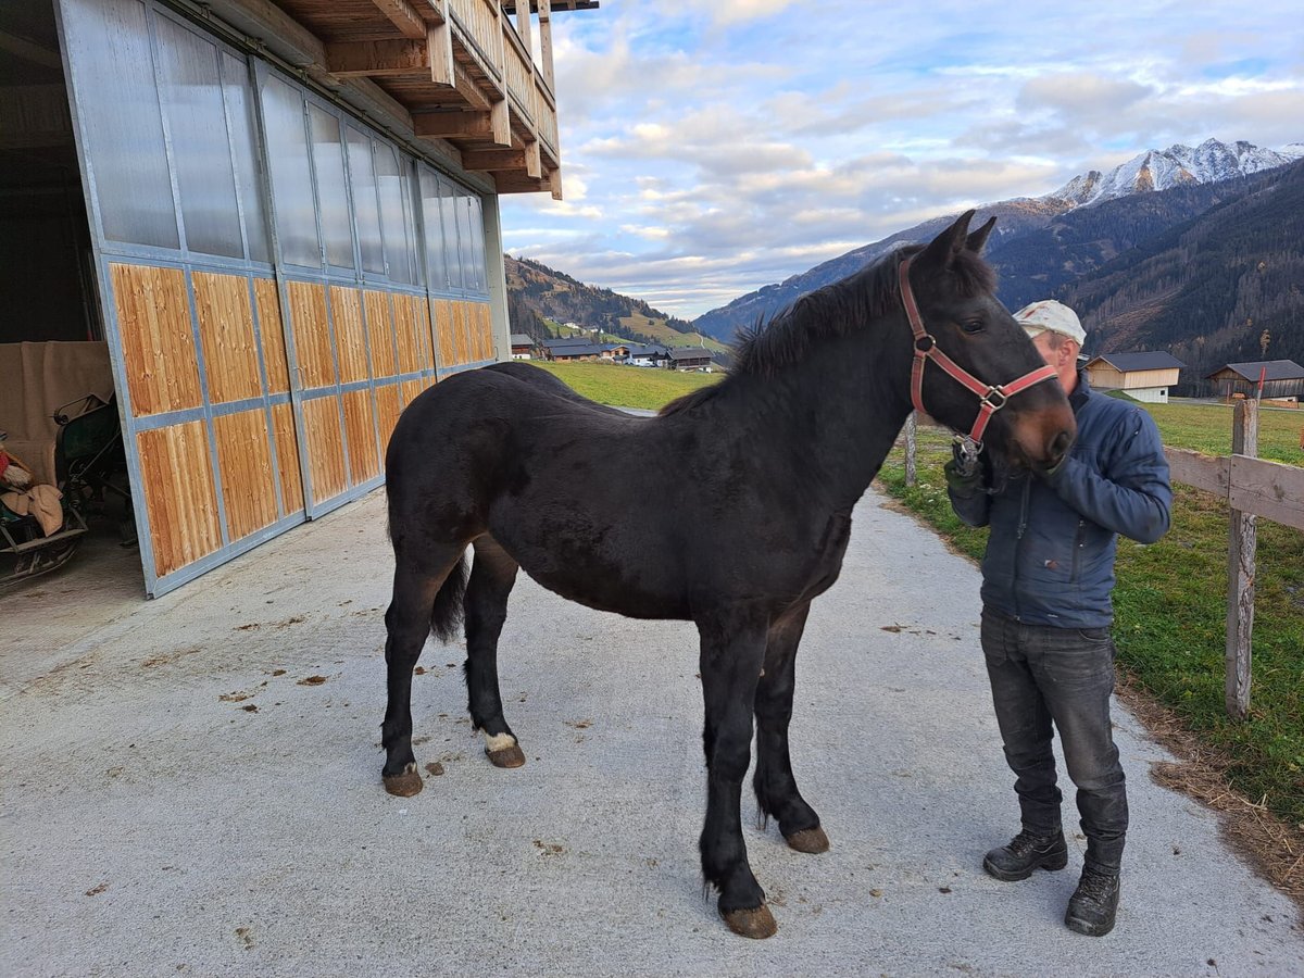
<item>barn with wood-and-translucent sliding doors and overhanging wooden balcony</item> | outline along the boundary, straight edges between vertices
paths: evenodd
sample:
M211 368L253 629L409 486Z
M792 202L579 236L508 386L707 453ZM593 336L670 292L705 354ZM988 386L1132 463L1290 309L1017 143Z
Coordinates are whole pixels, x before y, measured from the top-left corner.
M498 196L561 196L552 16L595 7L0 9L0 343L102 344L149 595L376 488L408 402L510 356Z

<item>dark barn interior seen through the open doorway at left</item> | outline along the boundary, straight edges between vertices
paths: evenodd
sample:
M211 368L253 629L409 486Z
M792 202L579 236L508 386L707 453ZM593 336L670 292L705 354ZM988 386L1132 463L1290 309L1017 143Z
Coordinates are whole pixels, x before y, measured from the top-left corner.
M74 557L81 566L107 558L140 580L112 400L53 4L4 4L0 447L12 462L0 463L0 582L14 585Z

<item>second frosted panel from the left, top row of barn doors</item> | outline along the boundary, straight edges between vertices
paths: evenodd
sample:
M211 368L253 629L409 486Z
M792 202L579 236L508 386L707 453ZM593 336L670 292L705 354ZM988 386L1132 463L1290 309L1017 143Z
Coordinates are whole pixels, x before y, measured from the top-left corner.
M155 37L186 246L241 258L218 50L167 17L156 18Z

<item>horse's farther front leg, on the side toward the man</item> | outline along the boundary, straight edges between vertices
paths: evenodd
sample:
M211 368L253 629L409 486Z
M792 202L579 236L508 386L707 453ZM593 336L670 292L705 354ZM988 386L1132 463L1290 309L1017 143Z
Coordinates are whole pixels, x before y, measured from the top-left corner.
M765 670L756 686L756 773L752 788L762 818L778 819L788 845L802 853L823 853L828 836L819 815L797 790L788 752L788 725L793 719L797 645L806 629L810 604L789 612L769 630Z

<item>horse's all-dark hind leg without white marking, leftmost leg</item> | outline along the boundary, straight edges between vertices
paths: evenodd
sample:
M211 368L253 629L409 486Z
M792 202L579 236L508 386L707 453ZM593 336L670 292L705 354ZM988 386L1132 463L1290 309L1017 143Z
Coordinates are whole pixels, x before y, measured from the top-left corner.
M428 574L398 558L394 597L385 612L385 662L389 702L381 725L385 790L408 798L421 790L421 775L412 754L412 669L430 635L436 599L443 587L460 589L464 574L462 553L439 574Z

